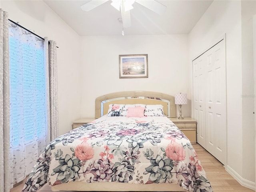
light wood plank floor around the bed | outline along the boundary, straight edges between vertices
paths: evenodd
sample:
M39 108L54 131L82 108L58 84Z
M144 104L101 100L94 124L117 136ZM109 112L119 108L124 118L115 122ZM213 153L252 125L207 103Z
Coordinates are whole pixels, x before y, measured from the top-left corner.
M199 160L207 174L214 192L254 192L254 190L241 186L228 172L223 165L209 154L199 144L193 144ZM21 192L23 184L10 190L10 192ZM38 192L52 192L48 185L42 187Z

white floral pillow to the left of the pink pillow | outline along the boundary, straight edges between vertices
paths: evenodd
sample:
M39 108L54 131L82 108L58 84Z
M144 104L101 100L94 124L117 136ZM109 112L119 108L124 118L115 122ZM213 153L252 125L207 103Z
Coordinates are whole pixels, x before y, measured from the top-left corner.
M107 116L126 116L128 107L135 107L131 104L110 104Z

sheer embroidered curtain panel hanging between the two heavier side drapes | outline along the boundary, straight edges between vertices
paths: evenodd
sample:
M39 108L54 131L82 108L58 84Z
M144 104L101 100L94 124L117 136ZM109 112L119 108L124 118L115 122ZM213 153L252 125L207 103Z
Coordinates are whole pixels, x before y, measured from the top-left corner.
M13 184L31 171L47 134L44 40L9 22L10 163Z

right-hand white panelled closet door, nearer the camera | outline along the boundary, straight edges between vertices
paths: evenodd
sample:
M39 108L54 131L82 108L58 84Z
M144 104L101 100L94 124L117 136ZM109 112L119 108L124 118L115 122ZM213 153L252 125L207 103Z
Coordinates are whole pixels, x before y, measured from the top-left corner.
M226 164L226 62L224 41L207 52L206 150Z

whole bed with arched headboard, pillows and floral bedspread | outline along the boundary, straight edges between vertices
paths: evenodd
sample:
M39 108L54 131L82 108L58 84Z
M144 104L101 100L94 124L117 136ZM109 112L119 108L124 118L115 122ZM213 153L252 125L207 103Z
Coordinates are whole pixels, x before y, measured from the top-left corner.
M116 92L95 100L93 122L59 136L38 158L22 192L212 192L188 138L168 117L174 97Z

